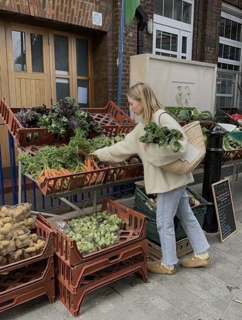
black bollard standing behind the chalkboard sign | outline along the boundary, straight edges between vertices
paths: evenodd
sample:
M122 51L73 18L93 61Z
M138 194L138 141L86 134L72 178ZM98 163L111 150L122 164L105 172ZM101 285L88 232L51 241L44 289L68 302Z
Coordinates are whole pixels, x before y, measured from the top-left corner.
M214 125L206 132L206 155L203 176L203 198L207 200L207 213L204 218L203 230L217 232L217 216L212 195L211 185L221 180L221 168L223 158L223 137L226 132L219 126Z

